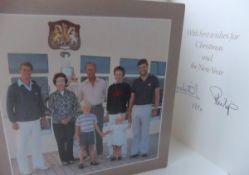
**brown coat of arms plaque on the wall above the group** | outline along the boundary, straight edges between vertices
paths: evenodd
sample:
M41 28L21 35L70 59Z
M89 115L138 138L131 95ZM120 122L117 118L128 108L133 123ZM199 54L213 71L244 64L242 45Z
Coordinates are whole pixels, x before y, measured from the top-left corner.
M80 48L80 25L66 20L49 22L48 44L52 49L78 50Z

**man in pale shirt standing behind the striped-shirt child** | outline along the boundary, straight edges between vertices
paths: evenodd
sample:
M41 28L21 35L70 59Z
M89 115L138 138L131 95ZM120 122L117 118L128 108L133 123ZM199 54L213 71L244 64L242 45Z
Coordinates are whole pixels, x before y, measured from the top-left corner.
M85 65L87 79L80 85L81 99L88 101L91 106L91 113L97 116L100 130L103 130L104 108L103 103L106 99L106 82L96 77L96 64L87 63ZM103 140L98 134L96 136L97 154L103 154Z

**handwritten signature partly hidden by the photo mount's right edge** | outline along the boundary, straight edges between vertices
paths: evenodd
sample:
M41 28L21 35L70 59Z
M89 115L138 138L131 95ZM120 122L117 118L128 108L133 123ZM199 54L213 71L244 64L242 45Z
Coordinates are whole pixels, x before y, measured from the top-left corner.
M176 86L176 92L200 100L198 96L198 85L193 83L182 83Z

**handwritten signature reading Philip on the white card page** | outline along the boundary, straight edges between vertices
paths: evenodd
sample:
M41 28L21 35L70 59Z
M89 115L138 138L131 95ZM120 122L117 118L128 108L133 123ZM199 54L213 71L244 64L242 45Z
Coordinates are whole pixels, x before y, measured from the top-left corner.
M230 114L230 110L238 110L239 106L237 106L236 104L229 102L227 97L222 97L223 96L223 91L221 88L219 88L218 86L210 86L209 87L209 91L212 94L213 98L214 98L214 103L217 106L220 106L222 108L226 109L227 115Z

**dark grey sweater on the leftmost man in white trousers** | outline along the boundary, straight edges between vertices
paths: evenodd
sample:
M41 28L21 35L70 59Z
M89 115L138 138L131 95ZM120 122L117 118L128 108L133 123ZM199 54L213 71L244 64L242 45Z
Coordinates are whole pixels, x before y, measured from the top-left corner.
M32 80L32 90L15 82L7 92L7 113L11 122L33 121L45 116L41 88Z

